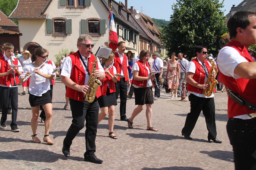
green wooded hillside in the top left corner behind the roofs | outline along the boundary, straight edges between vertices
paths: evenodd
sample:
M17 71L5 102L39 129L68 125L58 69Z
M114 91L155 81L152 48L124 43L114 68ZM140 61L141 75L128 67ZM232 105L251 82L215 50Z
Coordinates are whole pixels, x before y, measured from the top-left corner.
M16 7L18 3L18 0L1 0L0 1L0 10L4 12L4 14L9 17L9 15L12 13L14 8ZM18 22L15 19L12 19L15 24L18 24Z

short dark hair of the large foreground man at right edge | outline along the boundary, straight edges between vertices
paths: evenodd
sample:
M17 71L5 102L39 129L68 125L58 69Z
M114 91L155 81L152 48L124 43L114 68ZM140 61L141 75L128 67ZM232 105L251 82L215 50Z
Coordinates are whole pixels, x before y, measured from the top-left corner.
M227 27L230 38L236 37L236 29L238 27L245 29L250 25L249 17L251 16L256 16L256 13L250 11L238 11L229 18Z

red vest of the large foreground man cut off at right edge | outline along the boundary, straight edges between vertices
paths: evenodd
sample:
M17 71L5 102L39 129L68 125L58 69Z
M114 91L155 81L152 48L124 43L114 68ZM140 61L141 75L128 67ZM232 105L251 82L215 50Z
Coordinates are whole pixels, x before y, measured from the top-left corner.
M226 46L235 48L241 56L243 56L248 62L253 62L251 55L248 53L248 50L245 46L241 45L239 41L230 41ZM224 46L225 47L225 46ZM218 69L219 70L219 69ZM245 78L238 78L235 79L233 77L225 76L224 74L220 73L220 79L224 83L224 85L238 94L239 96L243 97L244 99L248 100L252 104L256 105L256 78L253 79L245 79ZM248 107L240 106L236 103L233 99L228 96L228 118L239 116L239 115L246 115ZM248 111L249 114L255 113L252 110Z

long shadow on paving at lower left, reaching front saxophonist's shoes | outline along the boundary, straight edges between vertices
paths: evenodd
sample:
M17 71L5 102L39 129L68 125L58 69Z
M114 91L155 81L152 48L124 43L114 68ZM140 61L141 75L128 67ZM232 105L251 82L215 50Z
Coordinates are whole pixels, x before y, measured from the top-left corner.
M0 159L11 159L11 160L26 160L31 162L56 162L59 159L66 160L67 158L58 153L54 153L47 150L36 150L36 149L20 149L9 152L0 152ZM14 156L15 155L15 156ZM84 161L81 157L69 157L68 159Z

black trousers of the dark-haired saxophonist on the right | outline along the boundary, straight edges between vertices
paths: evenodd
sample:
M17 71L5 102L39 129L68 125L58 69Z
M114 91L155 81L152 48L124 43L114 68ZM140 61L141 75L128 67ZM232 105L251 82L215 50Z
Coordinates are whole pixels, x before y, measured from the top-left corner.
M208 137L216 138L216 124L215 124L215 104L214 98L198 97L194 94L188 96L190 101L190 113L188 113L182 133L191 135L192 130L196 125L196 121L203 110L206 127L208 130Z

